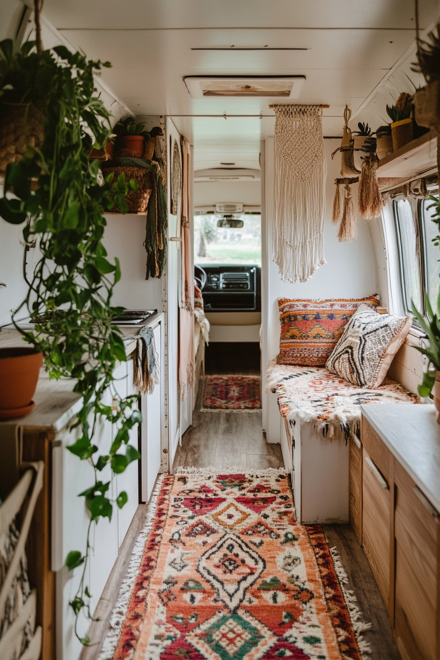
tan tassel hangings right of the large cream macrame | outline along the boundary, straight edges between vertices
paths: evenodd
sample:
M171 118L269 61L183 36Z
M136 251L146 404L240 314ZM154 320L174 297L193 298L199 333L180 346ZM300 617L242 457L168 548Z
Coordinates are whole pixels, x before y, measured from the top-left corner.
M348 127L348 121L352 111L348 106L344 110L344 129L342 132L342 143L332 153L332 159L336 152L341 152L341 176L334 180L336 192L333 201L333 224L339 224L338 241L351 241L358 236L356 231L356 213L359 211L362 218L371 220L381 214L382 199L377 183L377 164L379 162L375 154L375 138L365 141L361 154L361 171L354 166L354 144L352 131ZM360 175L360 176L359 176ZM358 208L355 207L352 198L351 185L359 182ZM344 185L344 207L341 215L340 185Z

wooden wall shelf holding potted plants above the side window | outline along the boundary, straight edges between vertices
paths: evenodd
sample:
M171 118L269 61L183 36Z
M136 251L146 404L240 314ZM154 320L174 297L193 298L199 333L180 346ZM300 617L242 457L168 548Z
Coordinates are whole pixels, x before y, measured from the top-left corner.
M437 136L425 133L379 160L378 177L412 177L437 167Z

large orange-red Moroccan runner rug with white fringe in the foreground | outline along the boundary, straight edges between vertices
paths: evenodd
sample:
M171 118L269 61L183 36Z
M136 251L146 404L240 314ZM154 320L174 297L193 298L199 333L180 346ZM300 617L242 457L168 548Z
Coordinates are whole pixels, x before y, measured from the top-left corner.
M162 478L100 660L369 652L360 636L369 626L323 531L295 521L286 474L231 472L183 468Z

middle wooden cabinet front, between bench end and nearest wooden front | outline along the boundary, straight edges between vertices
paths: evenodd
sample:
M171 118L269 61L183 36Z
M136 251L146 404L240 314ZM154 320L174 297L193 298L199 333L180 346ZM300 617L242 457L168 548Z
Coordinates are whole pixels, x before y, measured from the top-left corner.
M385 450L388 451L387 447ZM387 480L363 445L362 544L389 610L391 493Z

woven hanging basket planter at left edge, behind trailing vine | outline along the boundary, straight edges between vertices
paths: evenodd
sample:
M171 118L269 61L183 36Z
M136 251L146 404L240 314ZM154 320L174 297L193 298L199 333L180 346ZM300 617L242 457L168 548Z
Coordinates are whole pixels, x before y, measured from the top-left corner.
M22 159L26 147L40 147L44 140L42 110L24 103L0 105L0 174L9 163Z

